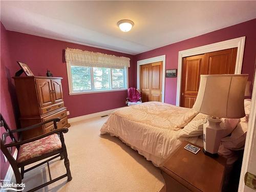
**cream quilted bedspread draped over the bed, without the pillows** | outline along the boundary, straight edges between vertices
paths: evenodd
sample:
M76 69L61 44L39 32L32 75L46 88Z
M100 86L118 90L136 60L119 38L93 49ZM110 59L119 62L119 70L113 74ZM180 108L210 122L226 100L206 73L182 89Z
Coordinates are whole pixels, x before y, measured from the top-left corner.
M182 140L197 141L198 137L179 138L180 129L175 129L175 122L187 110L161 102L125 107L110 115L100 133L119 137L147 160L161 166Z

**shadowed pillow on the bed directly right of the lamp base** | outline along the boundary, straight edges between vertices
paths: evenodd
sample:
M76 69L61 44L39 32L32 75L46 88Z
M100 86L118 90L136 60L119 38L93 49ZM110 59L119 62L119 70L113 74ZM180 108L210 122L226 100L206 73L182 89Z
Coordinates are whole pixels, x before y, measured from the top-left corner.
M238 123L231 135L221 139L222 145L230 150L240 150L244 147L247 129L248 122L246 118L241 118L241 122Z

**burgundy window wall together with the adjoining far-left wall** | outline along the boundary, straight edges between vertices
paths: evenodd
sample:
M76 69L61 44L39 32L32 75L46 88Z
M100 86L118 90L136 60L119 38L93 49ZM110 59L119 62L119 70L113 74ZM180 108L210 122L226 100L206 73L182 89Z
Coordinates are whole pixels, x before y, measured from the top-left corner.
M16 129L15 120L18 120L19 116L14 82L11 78L20 69L16 61L28 63L35 76L46 76L48 69L55 77L63 77L63 97L65 106L70 111L69 118L125 106L127 91L69 95L64 55L67 47L130 57L129 87L136 86L136 65L133 55L11 32L7 31L1 23L1 113L11 127ZM1 179L4 179L8 166L8 163L4 163L1 153Z

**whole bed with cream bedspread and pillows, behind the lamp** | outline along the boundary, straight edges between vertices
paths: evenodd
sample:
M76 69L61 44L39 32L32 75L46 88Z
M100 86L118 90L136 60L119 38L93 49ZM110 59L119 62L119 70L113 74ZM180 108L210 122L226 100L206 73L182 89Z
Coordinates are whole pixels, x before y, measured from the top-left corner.
M230 167L245 144L251 100L245 99L246 117L222 119L226 132L219 153ZM207 115L193 109L162 102L145 102L115 110L100 134L110 134L137 150L155 166L161 166L183 140L203 146L203 124Z

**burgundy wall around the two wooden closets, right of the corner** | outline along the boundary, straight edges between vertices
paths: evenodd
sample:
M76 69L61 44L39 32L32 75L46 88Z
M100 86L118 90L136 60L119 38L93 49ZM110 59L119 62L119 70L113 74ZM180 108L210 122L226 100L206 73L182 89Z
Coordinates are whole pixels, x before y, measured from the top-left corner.
M242 73L249 74L249 80L252 81L255 71L256 19L140 53L136 55L136 61L159 55L166 55L165 69L178 69L179 51L242 36L246 36ZM177 78L165 78L165 102L176 104L176 92Z

